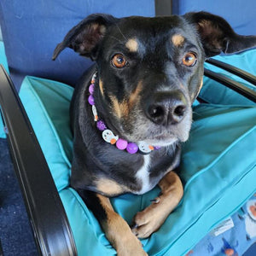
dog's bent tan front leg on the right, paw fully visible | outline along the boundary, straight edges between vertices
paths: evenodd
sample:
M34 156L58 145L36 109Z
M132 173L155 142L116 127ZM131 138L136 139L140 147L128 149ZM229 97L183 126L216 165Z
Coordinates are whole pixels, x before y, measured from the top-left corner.
M168 172L159 183L161 194L142 212L137 212L132 232L140 238L158 230L183 197L183 184L175 172Z

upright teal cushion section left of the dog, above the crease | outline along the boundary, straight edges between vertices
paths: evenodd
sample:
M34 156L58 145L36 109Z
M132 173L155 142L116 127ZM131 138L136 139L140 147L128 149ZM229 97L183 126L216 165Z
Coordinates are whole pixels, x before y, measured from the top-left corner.
M20 99L32 123L57 189L67 188L72 135L68 108L73 88L45 79L26 77Z

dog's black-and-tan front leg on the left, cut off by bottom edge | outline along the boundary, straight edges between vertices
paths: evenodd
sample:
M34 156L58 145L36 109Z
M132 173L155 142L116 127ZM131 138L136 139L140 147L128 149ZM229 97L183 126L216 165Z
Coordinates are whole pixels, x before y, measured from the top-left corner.
M105 232L108 241L119 256L148 255L142 243L131 232L131 228L117 212L114 212L109 198L88 190L78 190L87 207L94 213Z

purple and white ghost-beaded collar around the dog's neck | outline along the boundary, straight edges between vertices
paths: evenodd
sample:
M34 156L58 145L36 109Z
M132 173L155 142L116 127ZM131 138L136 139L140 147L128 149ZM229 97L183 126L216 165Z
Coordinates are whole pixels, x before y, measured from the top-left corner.
M95 88L95 79L96 79L96 73L94 73L90 81L90 86L89 86L90 96L88 97L88 102L91 105L94 120L96 122L96 127L99 131L102 131L102 138L104 139L104 141L115 145L116 148L119 148L120 150L126 150L129 154L136 154L136 153L149 154L153 150L160 149L160 147L154 147L143 141L138 143L127 142L126 140L119 138L119 136L114 135L113 131L108 129L107 125L104 123L102 119L99 119L97 114L97 110L94 102L94 96L93 96L93 92Z

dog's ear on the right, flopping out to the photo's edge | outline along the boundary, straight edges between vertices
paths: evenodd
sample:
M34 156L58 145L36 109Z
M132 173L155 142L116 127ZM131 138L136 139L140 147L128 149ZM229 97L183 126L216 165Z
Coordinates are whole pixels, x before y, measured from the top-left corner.
M235 53L256 46L256 36L236 34L222 17L207 12L188 13L183 17L195 24L207 57Z

